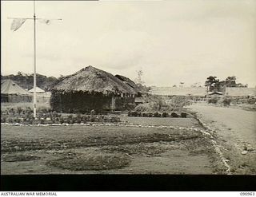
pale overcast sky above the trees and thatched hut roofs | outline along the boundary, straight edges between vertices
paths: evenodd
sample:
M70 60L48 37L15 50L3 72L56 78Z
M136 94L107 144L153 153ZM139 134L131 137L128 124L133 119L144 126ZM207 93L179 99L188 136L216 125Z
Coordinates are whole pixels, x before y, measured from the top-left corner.
M2 75L33 73L33 2L2 2ZM146 85L204 84L206 77L256 85L256 1L36 2L37 73L60 77L87 65Z

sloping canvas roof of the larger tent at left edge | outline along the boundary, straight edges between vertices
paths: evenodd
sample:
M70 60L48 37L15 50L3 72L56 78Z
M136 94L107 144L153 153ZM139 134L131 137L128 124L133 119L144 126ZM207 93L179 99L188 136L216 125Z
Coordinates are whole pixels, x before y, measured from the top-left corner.
M1 94L6 95L31 95L26 89L22 89L14 81L10 79L1 81Z

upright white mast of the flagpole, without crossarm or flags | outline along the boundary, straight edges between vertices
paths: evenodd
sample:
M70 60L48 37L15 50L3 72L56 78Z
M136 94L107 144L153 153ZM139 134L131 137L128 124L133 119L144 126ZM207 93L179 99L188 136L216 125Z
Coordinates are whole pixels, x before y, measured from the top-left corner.
M36 93L36 34L35 34L35 0L34 0L34 97L33 97L33 111L34 111L34 119L37 117L37 93Z

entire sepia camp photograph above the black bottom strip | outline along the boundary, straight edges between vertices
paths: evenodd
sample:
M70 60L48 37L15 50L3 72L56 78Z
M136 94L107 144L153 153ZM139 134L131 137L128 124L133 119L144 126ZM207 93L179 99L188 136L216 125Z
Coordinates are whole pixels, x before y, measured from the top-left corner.
M1 1L1 175L256 175L256 1Z

